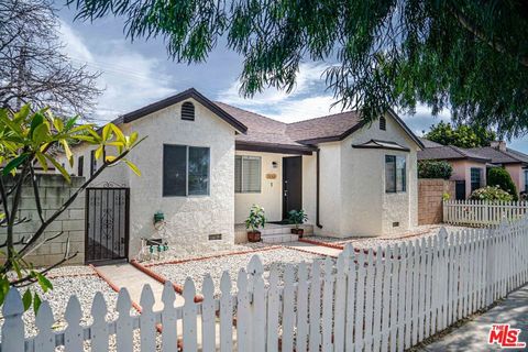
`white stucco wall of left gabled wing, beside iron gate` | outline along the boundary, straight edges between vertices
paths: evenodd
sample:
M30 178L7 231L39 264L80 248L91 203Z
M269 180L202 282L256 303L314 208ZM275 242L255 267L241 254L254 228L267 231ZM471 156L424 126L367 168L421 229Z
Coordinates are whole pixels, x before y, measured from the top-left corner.
M182 120L182 103L177 103L123 128L127 133L138 131L140 138L147 136L128 157L141 169L141 177L119 165L105 170L97 180L97 184L110 180L130 187L131 258L140 250L141 238L163 237L173 248L195 251L233 243L234 129L199 102L191 101L195 121ZM210 148L209 196L162 196L163 144ZM89 175L89 147L78 148L85 155L85 175ZM73 173L76 170L74 165ZM166 226L161 231L153 226L156 211L165 215ZM222 241L208 240L209 234L217 233L222 234Z

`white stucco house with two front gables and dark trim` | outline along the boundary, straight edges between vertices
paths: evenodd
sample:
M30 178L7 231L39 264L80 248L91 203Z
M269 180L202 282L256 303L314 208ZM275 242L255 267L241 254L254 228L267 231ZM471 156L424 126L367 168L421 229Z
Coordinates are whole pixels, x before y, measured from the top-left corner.
M422 144L394 111L372 124L356 112L288 124L188 89L113 123L147 136L129 157L141 177L118 165L95 185L129 189L128 223L122 223L130 257L141 238L163 237L172 246L242 241L243 235L235 239L235 224L253 204L264 207L268 221L301 208L320 235L382 235L417 224ZM77 145L75 155L69 172L79 176L102 162L86 144ZM113 196L98 197L107 198L90 207L113 207ZM90 211L91 227L114 227L113 219ZM154 226L156 212L165 219L163 233Z

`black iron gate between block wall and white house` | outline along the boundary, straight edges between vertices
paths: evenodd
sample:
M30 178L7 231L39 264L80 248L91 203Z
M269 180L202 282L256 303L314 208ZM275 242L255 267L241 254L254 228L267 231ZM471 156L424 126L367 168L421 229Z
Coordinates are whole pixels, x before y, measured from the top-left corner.
M129 188L86 189L86 263L128 258L129 198Z

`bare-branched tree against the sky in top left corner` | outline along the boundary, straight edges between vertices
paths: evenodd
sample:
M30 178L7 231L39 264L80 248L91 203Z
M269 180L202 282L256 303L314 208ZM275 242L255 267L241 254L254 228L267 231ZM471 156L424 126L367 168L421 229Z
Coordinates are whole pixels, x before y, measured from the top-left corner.
M31 102L64 116L90 112L99 74L64 54L53 1L2 0L0 19L0 108Z

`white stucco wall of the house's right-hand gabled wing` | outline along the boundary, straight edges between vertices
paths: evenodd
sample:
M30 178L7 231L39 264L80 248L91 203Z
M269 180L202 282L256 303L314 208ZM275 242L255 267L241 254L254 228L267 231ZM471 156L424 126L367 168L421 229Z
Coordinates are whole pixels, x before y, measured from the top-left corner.
M388 114L386 130L378 123L354 132L341 142L323 143L321 150L320 223L316 232L332 237L382 235L418 223L418 146ZM396 142L411 151L353 148L370 140ZM406 157L407 190L385 193L385 155ZM393 222L399 222L394 228Z

